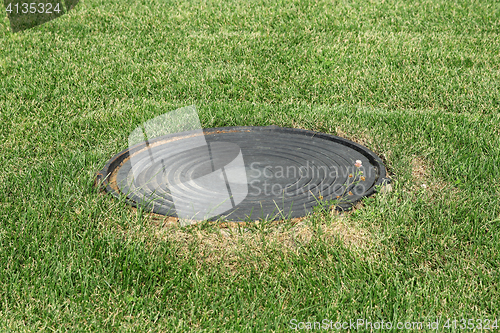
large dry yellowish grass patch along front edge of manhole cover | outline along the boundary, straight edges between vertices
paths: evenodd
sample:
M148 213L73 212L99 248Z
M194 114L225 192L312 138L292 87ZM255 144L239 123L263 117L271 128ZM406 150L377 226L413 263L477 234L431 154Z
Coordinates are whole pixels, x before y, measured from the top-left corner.
M299 255L315 237L332 246L338 246L340 241L365 259L373 257L369 253L374 242L370 233L354 225L345 213L332 212L329 217L316 214L286 222L214 222L208 227L199 224L186 228L179 226L177 218L151 214L146 219L146 230L118 232L125 238L140 238L152 248L161 241L177 244L179 255L194 256L200 267L222 264L237 272L238 267L252 264L265 269L271 264L270 251L278 251L281 256Z

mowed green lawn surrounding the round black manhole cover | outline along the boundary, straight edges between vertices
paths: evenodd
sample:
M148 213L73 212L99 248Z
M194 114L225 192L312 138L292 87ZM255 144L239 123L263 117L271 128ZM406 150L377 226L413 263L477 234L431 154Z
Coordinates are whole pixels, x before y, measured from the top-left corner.
M0 331L500 320L500 2L83 0L9 29L0 16ZM94 188L132 130L191 104L205 128L363 143L392 191L180 228Z

